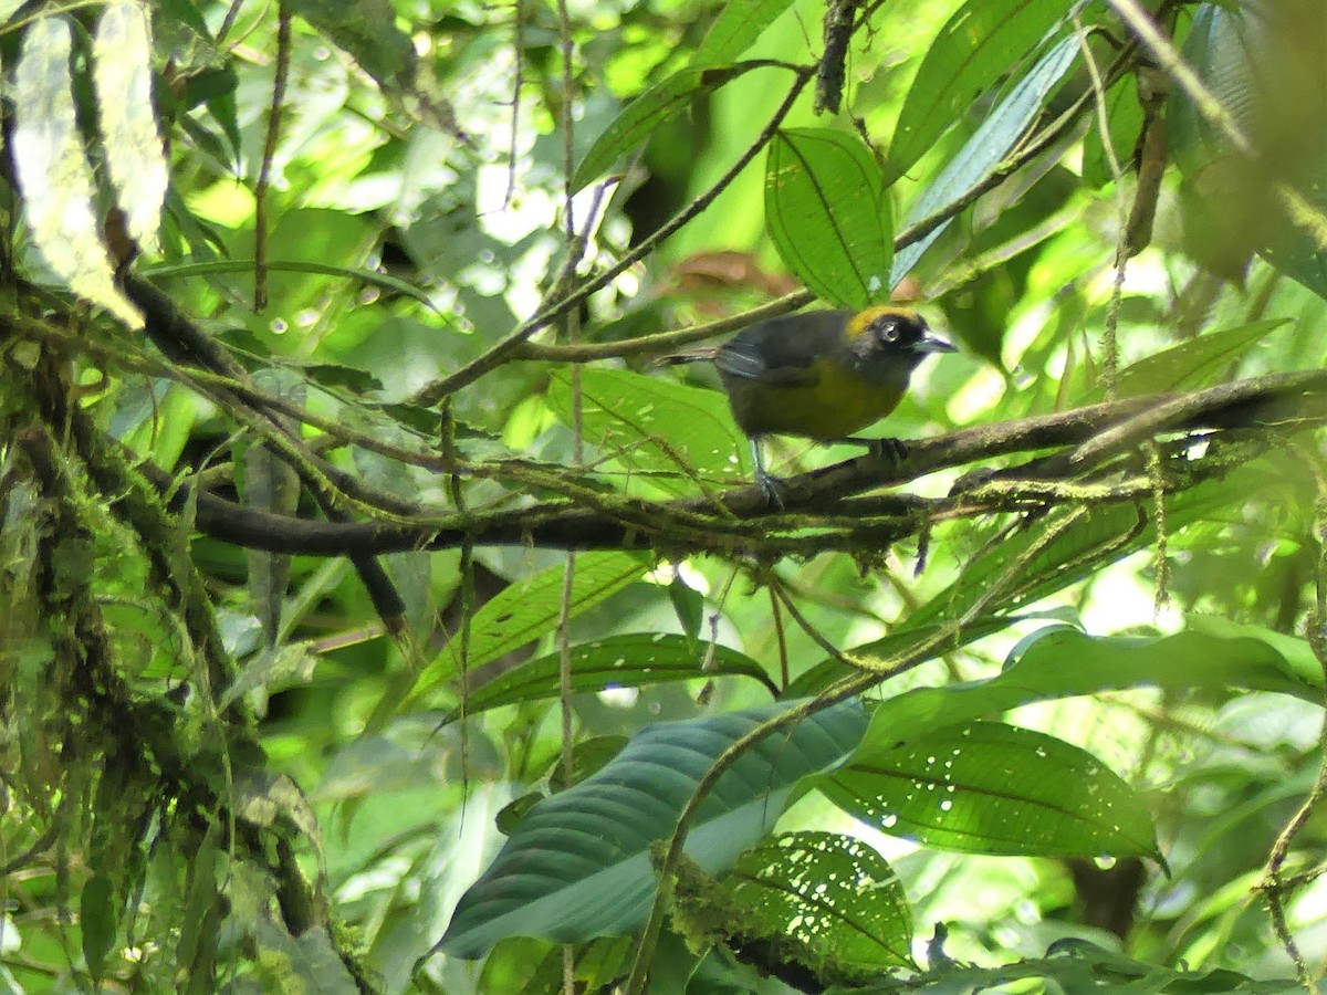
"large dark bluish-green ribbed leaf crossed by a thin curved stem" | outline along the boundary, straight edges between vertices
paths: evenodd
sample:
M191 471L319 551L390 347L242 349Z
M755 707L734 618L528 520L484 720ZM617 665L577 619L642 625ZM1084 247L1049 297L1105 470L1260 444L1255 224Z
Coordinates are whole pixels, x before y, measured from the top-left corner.
M787 706L652 726L598 773L535 805L462 897L435 950L472 959L499 939L580 943L640 929L658 885L650 845L666 840L714 760ZM855 702L746 751L706 796L686 854L709 874L779 819L798 781L837 763L864 728Z

